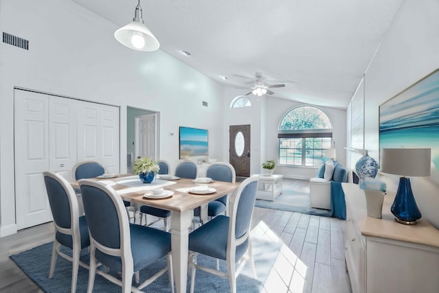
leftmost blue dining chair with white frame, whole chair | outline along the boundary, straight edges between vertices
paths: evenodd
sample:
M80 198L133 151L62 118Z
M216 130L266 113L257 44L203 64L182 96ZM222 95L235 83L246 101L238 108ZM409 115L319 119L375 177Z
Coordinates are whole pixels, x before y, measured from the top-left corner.
M44 172L43 176L55 226L49 279L54 277L56 259L60 255L72 262L71 292L75 292L79 266L88 268L80 261L82 248L90 246L86 218L84 215L80 217L75 191L67 180L52 172ZM70 248L73 257L62 253L61 246Z

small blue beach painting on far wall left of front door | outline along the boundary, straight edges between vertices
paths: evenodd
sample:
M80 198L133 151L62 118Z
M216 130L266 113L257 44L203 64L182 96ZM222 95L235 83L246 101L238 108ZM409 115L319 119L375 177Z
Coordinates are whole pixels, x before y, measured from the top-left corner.
M180 159L208 156L208 138L208 130L180 126Z

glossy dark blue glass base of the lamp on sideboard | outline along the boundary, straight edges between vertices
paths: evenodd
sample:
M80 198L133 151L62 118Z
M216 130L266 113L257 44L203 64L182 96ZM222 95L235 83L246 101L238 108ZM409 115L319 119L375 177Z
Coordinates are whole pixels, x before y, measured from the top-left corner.
M414 225L421 214L414 200L410 179L399 178L399 187L390 211L395 216L395 221L401 224Z

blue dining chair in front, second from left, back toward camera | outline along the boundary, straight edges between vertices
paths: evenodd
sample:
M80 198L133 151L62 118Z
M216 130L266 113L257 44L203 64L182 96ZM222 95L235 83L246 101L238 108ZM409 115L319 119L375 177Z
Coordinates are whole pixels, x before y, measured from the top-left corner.
M88 292L93 291L95 274L121 285L122 292L139 292L166 271L169 272L171 292L174 292L174 274L171 259L171 234L158 229L131 224L124 211L121 197L111 187L99 181L80 180L84 211L90 231L90 272ZM167 267L161 269L137 288L132 287L132 276L167 257ZM122 281L104 270L100 264L115 272L121 272ZM139 283L139 274L136 282Z

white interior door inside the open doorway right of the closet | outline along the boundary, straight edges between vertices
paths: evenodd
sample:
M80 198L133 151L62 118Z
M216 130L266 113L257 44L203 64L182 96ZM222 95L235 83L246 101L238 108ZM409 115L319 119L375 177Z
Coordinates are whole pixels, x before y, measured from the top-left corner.
M134 160L145 156L157 159L156 114L140 115L134 121Z

